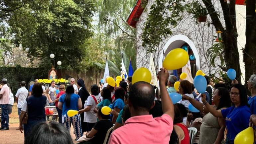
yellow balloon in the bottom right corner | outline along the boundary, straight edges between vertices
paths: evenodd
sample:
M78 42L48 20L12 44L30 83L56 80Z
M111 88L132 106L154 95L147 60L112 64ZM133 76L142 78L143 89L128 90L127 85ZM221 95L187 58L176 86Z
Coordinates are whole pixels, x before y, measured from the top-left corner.
M236 135L234 144L253 144L253 141L254 141L253 128L248 127Z

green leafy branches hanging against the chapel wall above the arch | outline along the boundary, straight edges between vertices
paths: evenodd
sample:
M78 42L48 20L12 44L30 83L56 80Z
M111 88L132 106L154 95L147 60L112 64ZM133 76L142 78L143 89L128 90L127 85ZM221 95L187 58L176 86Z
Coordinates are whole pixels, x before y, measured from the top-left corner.
M155 52L163 38L172 35L170 26L177 26L182 20L181 13L186 9L185 0L156 0L150 12L142 34L142 46L148 52Z

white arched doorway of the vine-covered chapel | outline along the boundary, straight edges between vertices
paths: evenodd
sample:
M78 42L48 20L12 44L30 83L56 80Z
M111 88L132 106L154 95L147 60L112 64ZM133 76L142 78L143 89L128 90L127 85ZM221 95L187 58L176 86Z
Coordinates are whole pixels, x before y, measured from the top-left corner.
M189 39L187 36L184 36L184 35L172 36L163 47L164 54L166 56L172 49L181 48L184 45L187 45L189 47L188 49L189 55L193 54L195 57L194 60L190 59L191 73L192 73L192 77L194 77L195 72L200 69L200 59L199 59L199 54L197 52L197 49L191 39ZM159 58L159 68L162 67L163 60L164 60L164 56L161 55ZM179 72L181 73L181 71Z

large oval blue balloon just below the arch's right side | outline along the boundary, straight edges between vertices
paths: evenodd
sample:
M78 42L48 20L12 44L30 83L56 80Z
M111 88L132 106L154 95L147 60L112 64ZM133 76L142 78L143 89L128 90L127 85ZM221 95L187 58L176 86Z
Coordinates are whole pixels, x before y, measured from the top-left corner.
M207 87L207 82L204 76L202 75L196 76L194 78L194 86L199 93L204 93Z

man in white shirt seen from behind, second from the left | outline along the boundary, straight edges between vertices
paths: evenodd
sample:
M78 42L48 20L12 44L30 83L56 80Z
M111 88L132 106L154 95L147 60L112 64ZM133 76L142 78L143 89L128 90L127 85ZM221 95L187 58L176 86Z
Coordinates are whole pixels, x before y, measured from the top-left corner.
M28 97L28 94L29 94L28 90L25 88L26 82L25 81L21 81L20 85L21 85L21 88L18 89L18 91L17 91L17 93L15 95L19 117L20 117L22 105L26 101L26 99Z

